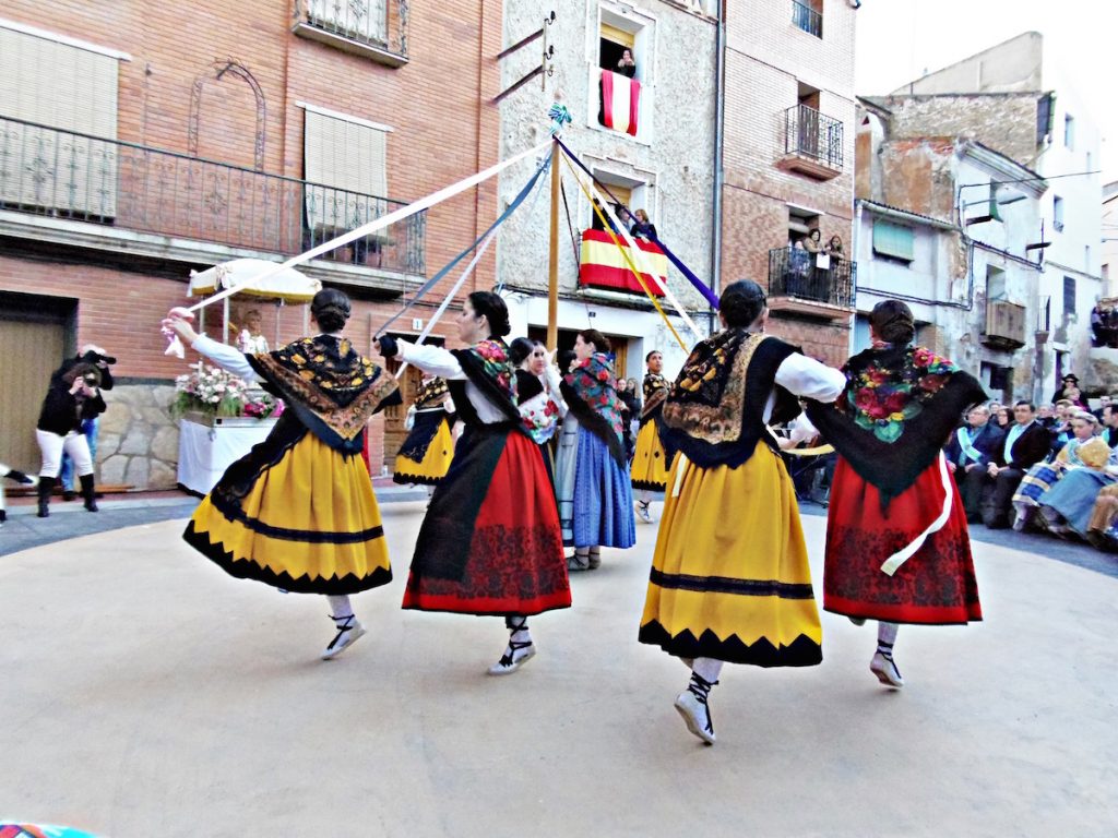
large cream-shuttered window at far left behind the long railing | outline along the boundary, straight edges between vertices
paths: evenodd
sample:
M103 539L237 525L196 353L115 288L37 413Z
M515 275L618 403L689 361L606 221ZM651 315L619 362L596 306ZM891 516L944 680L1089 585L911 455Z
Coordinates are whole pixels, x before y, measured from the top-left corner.
M116 147L96 137L116 139L119 58L2 27L0 55L0 201L115 217Z

